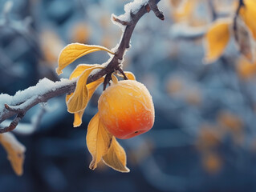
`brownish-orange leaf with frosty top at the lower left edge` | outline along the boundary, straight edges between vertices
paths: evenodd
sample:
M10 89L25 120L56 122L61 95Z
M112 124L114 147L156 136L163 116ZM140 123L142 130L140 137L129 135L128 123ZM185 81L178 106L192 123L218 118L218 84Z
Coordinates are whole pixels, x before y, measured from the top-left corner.
M7 152L8 159L17 175L22 175L23 173L23 162L25 158L25 146L11 133L0 134L0 144L4 147Z

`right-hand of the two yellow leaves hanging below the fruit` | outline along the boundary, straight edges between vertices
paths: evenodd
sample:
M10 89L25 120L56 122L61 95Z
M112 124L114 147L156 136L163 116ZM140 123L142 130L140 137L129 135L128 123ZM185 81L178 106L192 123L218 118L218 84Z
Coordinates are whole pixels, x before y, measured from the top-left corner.
M116 138L113 136L111 146L108 150L108 154L105 154L103 157L104 163L107 166L112 167L114 170L120 172L130 172L126 167L126 154L122 146L116 141Z

